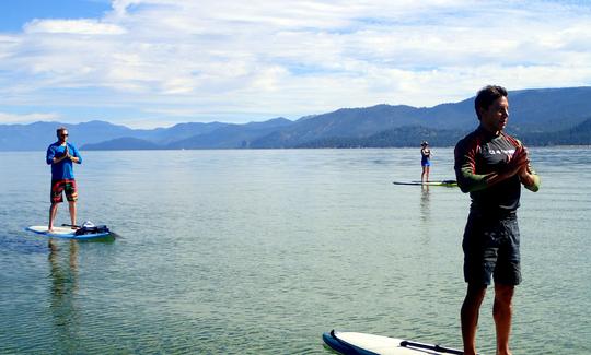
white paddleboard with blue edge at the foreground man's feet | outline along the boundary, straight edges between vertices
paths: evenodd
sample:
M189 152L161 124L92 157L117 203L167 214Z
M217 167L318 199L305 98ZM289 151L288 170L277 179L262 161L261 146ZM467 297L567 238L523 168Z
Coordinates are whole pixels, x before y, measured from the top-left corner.
M337 332L333 330L329 333L324 333L322 339L332 350L344 355L464 354L464 352L455 348L366 333Z

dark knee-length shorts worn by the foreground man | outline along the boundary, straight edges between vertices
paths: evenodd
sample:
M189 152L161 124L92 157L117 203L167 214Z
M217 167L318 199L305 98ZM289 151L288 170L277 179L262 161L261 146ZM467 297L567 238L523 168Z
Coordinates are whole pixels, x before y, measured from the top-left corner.
M519 227L514 212L487 214L472 211L462 242L467 283L521 283Z

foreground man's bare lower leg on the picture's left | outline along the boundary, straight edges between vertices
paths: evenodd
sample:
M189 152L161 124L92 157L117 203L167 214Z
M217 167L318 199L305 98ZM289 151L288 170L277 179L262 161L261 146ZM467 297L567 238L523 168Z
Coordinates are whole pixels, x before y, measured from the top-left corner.
M464 341L464 354L476 354L476 328L480 305L486 295L486 285L468 283L466 298L462 305L462 339Z

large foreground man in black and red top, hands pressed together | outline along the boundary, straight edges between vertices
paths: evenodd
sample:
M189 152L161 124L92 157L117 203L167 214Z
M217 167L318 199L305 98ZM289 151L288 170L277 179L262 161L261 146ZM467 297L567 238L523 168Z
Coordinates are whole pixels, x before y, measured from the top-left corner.
M478 312L491 280L497 354L511 354L511 301L514 286L521 282L515 212L521 185L534 192L540 188L528 150L503 132L509 118L507 97L507 91L500 86L486 86L478 92L474 106L480 125L457 142L454 152L457 185L472 199L462 241L467 292L461 318L466 355L476 354Z

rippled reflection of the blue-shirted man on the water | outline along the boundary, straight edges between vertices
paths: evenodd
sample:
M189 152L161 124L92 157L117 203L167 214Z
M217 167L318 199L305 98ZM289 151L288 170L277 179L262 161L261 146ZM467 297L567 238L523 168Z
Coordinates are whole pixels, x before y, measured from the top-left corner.
M57 241L49 240L50 312L54 320L56 344L66 347L77 339L78 307L78 242L70 240L60 250ZM66 255L67 252L67 255ZM60 256L61 255L61 256Z

